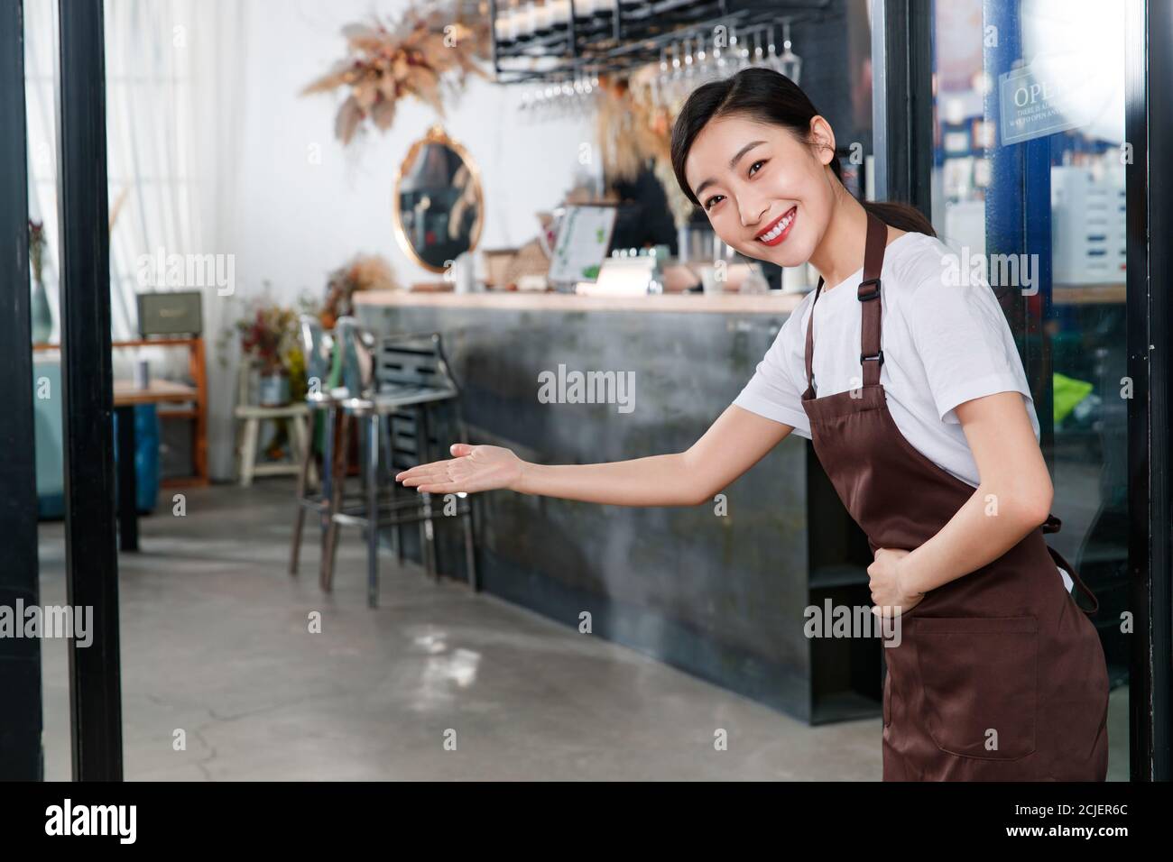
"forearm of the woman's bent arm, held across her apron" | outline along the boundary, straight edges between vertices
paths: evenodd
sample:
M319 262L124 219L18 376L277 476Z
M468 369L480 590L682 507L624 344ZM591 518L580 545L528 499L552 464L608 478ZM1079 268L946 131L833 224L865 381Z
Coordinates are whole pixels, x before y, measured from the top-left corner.
M1002 504L994 509L991 498ZM928 592L992 563L1046 520L1032 508L1005 502L1025 498L979 487L933 538L900 561L901 585Z

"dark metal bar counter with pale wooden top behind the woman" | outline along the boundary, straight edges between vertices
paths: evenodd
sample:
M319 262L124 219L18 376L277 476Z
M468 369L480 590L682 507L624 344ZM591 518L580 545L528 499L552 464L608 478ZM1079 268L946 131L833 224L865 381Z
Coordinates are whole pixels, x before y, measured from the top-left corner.
M377 335L442 333L469 442L572 464L687 449L801 298L361 292L354 303ZM576 399L563 382L575 372L613 372L630 392ZM445 456L455 427L438 432ZM575 631L589 620L592 636L811 724L880 714L879 642L806 634L808 609L870 604L872 559L806 439L788 435L700 505L473 498L482 590ZM456 521L438 525L438 565L466 579ZM418 558L418 543L405 545Z

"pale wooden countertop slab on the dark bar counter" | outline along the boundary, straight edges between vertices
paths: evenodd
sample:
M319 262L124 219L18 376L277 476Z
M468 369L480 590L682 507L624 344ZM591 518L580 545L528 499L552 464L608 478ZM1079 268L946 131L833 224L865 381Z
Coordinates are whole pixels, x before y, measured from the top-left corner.
M723 314L789 314L805 293L660 293L643 297L599 297L538 291L487 293L412 293L360 291L355 305L421 306L440 308L496 308L500 311L645 311L707 312Z

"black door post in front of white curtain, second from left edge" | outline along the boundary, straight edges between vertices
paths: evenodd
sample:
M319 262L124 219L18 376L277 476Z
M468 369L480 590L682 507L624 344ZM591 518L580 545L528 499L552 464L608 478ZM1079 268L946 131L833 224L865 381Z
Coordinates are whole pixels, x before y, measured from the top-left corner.
M69 640L73 776L121 781L106 35L102 0L59 0L57 8L66 595L72 606L93 609L93 643Z

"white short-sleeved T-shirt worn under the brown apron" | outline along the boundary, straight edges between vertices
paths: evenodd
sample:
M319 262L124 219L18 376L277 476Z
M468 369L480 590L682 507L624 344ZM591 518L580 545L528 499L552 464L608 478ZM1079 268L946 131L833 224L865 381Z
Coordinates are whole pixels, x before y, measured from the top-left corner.
M976 488L981 481L977 463L954 408L983 395L1018 392L1036 440L1038 415L1010 325L994 291L984 280L956 284L963 279L947 279L948 260L956 262L955 252L924 233L904 233L884 250L880 273L880 382L893 421L913 447ZM856 287L862 278L861 267L834 287L823 285L818 303L811 291L782 324L733 403L792 426L794 434L809 439L802 393L807 386L805 347L811 306L815 307L815 395L859 388L863 369ZM1059 572L1070 590L1071 577L1062 568Z

